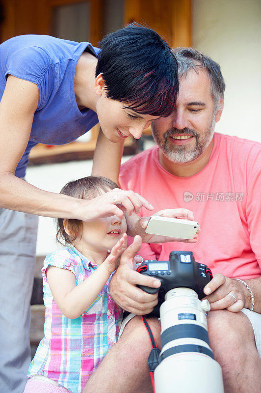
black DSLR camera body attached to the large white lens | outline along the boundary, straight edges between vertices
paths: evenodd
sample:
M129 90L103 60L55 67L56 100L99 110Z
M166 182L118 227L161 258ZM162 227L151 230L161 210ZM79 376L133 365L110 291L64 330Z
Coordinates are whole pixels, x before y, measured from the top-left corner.
M166 292L171 289L190 288L198 294L199 299L204 298L206 295L203 289L213 277L208 266L195 262L190 251L172 251L168 261L145 260L137 268L137 272L161 281L159 288L138 285L147 293L153 294L158 291L158 304L150 316L159 315L159 307L164 302Z

